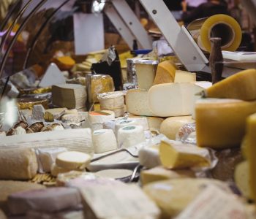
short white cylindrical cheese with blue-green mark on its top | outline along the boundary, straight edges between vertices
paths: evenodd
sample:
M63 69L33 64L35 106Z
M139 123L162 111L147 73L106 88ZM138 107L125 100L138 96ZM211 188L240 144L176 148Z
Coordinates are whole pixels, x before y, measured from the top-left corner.
M118 130L118 147L130 147L145 141L143 126L124 126Z

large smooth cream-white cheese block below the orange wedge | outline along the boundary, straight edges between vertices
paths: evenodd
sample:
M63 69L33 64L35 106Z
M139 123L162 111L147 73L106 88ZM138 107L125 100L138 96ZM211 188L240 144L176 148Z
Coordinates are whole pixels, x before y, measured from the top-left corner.
M148 91L148 107L159 117L192 115L200 91L203 88L194 82L154 85Z

